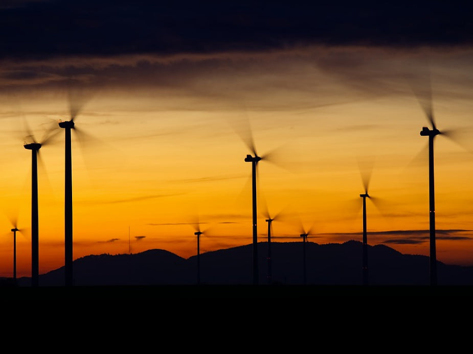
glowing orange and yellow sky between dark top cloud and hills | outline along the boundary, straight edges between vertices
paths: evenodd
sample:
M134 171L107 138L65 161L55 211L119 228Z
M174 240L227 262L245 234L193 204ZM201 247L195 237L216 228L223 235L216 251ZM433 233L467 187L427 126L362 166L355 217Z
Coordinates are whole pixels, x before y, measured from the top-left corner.
M252 242L251 164L258 154L258 235L362 240L362 177L371 171L368 243L429 255L427 126L432 102L437 259L473 265L473 49L470 45L294 44L207 53L76 54L0 59L3 166L0 276L31 275L31 151L69 120L74 259L166 249L196 254ZM31 74L31 73L34 73ZM68 89L67 79L74 79ZM432 99L430 98L432 95ZM64 136L40 149L39 270L64 265ZM419 155L420 154L420 155ZM302 225L302 226L301 226ZM250 260L249 260L250 261Z

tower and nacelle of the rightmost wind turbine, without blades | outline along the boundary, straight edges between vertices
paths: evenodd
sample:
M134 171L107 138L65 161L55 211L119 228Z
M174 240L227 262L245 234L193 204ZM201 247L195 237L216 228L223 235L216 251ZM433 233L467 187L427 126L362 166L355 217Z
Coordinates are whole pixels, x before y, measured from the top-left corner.
M440 134L437 128L422 127L421 136L429 137L429 221L430 221L430 282L437 285L437 255L435 249L435 191L434 191L434 137Z

